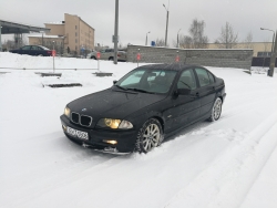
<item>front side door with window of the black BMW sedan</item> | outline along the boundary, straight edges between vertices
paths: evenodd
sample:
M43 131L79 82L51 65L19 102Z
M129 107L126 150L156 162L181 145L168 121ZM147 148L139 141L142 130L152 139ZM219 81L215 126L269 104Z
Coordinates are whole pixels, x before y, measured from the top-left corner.
M193 69L185 70L181 73L176 81L175 89L191 90L191 93L187 95L176 95L176 93L173 95L171 116L174 121L173 128L177 129L197 121L201 116L201 102Z

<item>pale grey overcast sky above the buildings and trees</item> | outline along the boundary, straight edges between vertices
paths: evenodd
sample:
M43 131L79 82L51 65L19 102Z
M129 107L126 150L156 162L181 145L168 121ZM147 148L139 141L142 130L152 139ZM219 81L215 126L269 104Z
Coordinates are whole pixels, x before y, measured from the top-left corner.
M119 0L120 43L145 44L165 38L168 0ZM220 28L228 21L244 41L253 33L254 42L270 42L277 30L277 0L170 0L167 42L173 45L177 32L188 34L192 20L206 23L209 42L219 37ZM62 21L64 13L76 14L95 29L95 43L112 45L115 0L0 0L0 19L44 27L44 22ZM4 37L3 37L4 38Z

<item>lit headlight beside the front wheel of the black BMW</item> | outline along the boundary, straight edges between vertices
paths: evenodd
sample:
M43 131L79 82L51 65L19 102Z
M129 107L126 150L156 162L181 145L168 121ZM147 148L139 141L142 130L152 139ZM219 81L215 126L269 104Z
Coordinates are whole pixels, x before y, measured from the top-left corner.
M110 127L113 129L122 128L122 129L129 129L133 128L133 124L131 122L124 121L124 119L114 119L114 118L101 118L98 122L98 127Z

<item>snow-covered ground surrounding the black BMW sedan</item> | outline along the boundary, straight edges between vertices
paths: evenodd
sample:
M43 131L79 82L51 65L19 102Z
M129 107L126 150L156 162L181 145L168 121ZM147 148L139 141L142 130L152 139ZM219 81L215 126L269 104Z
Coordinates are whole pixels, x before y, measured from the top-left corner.
M98 66L80 59L55 63ZM0 73L1 208L277 207L277 74L208 67L226 83L218 122L197 123L146 155L116 156L71 143L59 116L66 103L110 87L136 64L102 61L111 77L58 70L60 80L9 69L51 66L51 58L0 53L0 72L10 72ZM83 86L42 87L53 81Z

